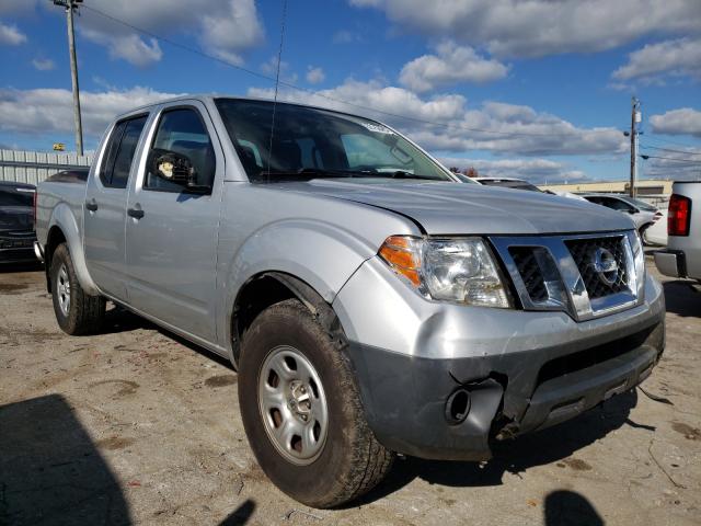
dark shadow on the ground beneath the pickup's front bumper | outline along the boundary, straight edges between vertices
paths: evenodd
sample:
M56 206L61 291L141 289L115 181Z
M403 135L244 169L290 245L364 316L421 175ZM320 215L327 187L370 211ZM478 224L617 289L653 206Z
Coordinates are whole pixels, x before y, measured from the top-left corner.
M423 479L429 484L480 488L501 485L507 472L518 476L536 466L553 462L556 462L555 466L559 469L593 469L583 460L567 459L567 457L624 424L654 431L652 426L637 424L629 419L630 411L636 403L635 390L616 396L602 407L595 408L572 421L514 441L495 444L494 458L482 465L423 460L413 457L399 459L387 479L363 498L361 503L369 503L393 493L415 478Z

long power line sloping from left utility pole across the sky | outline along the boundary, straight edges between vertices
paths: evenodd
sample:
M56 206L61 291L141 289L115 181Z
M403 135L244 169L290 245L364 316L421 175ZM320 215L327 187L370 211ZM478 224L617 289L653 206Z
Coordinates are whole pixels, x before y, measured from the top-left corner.
M142 27L138 27L138 26L136 26L136 25L134 25L134 24L131 24L129 22L126 22L126 21L124 21L122 19L118 19L116 16L113 16L112 14L105 13L105 12L99 10L99 9L93 8L93 7L83 4L83 8L88 9L88 10L90 10L90 11L92 11L92 12L94 12L94 13L101 15L101 16L104 16L105 19L112 20L113 22L116 22L116 23L122 24L122 25L124 25L126 27L129 27L129 28L131 28L131 30L134 30L134 31L136 31L138 33L142 33L145 35L148 35L151 38L156 38L157 41L164 42L166 44L170 44L173 47L177 47L180 49L183 49L185 52L192 53L194 55L198 55L200 57L208 58L210 60L215 60L215 61L217 61L219 64L222 64L225 66L228 66L230 68L238 69L239 71L242 71L244 73L252 75L252 76L257 77L260 79L263 79L263 80L266 80L266 81L269 81L269 82L274 82L274 83L276 83L278 85L284 85L284 87L290 88L292 90L301 91L301 92L311 94L313 96L319 96L319 98L325 99L327 101L332 101L332 102L336 102L336 103L340 103L340 104L346 104L348 106L357 107L359 110L365 110L365 111L368 111L368 112L379 113L381 115L387 115L387 116L390 116L390 117L401 118L401 119L410 121L410 122L414 122L414 123L426 124L426 125L429 125L429 126L438 126L438 127L445 127L445 128L458 128L458 129L464 129L467 132L474 132L474 133L479 133L479 134L501 135L501 136L505 136L505 137L561 137L562 138L562 137L567 137L567 136L572 135L572 134L566 134L566 133L559 133L559 134L554 134L554 133L544 134L543 133L543 134L539 134L539 133L526 133L526 132L502 132L502 130L495 130L495 129L472 128L472 127L469 127L469 126L462 126L462 125L460 125L458 123L437 123L435 121L428 121L428 119L418 118L418 117L410 117L409 115L401 115L401 114L398 114L398 113L392 113L392 112L387 112L384 110L379 110L377 107L366 106L364 104L357 104L355 102L344 101L342 99L336 99L334 96L331 96L331 95L327 95L327 94L324 94L324 93L320 93L318 91L313 91L311 89L303 88L301 85L294 84L291 82L286 82L284 80L276 79L275 77L269 77L269 76L264 75L264 73L258 73L257 71L254 71L254 70L249 69L249 68L244 68L243 66L238 66L238 65L235 65L233 62L225 60L225 59L222 59L220 57L217 57L215 55L210 55L208 53L205 53L205 52L203 52L200 49L197 49L195 47L187 46L185 44L182 44L180 42L173 41L171 38L166 38L164 36L158 35L158 34L156 34L156 33L153 33L151 31L145 30ZM486 140L486 139L484 139L484 140Z

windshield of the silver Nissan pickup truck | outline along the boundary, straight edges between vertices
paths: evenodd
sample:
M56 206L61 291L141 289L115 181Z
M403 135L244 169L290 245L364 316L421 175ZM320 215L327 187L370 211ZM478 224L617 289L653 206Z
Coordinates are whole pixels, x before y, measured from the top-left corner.
M216 103L253 182L336 176L452 181L401 135L375 121L278 103L271 155L272 102Z

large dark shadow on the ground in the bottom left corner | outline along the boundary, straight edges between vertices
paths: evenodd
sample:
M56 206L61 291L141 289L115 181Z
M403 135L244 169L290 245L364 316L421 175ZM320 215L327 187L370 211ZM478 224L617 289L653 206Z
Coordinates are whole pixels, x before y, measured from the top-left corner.
M0 524L130 524L116 477L58 396L0 407Z

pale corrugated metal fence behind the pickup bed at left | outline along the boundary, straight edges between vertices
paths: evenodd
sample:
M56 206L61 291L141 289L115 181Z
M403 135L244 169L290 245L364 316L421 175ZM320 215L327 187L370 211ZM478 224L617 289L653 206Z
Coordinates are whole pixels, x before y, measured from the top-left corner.
M0 181L38 184L61 170L90 167L92 155L0 150Z

